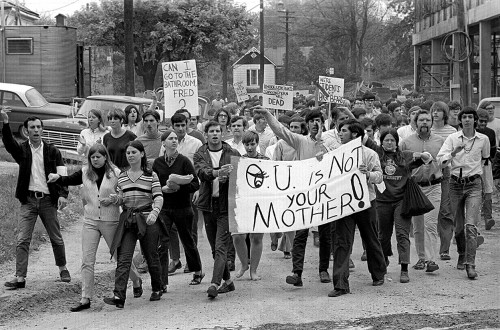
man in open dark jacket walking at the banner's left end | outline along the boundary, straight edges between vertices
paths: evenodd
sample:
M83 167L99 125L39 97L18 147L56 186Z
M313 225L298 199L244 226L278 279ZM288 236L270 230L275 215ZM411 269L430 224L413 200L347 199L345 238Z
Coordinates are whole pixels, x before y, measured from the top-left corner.
M214 257L209 298L219 293L234 291L234 283L227 266L227 244L231 240L228 222L229 175L232 170L231 156L240 156L238 151L222 141L220 124L210 121L205 126L207 143L194 154L194 167L200 179L198 209L203 213L208 242ZM221 281L224 284L219 287Z

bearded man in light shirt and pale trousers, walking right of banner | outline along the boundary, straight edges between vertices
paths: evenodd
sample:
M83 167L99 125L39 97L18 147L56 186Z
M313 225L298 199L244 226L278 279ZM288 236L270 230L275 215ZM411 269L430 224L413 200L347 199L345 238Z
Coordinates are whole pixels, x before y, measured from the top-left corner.
M416 134L410 135L401 142L401 151L409 150L430 155L428 161L413 170L412 177L429 198L434 209L425 215L413 217L413 234L418 262L413 268L434 272L439 269L437 261L438 215L441 202L441 181L443 172L436 157L443 146L444 139L431 133L432 116L427 110L419 110L415 115Z

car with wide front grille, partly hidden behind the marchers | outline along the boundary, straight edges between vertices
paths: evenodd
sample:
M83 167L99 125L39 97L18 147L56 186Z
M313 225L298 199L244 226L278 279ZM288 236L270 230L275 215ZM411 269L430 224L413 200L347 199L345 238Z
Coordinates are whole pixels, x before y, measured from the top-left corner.
M78 112L72 118L54 119L44 121L44 130L42 138L48 143L53 143L62 152L63 157L72 160L80 160L77 155L76 147L80 132L87 127L87 116L92 109L98 109L102 112L103 119L107 125L107 114L111 109L124 110L128 105L135 105L140 114L144 113L151 105L152 100L141 97L119 96L119 95L93 95L87 97ZM198 98L198 104L201 111L206 111L208 100L202 97ZM163 111L157 109L161 113Z

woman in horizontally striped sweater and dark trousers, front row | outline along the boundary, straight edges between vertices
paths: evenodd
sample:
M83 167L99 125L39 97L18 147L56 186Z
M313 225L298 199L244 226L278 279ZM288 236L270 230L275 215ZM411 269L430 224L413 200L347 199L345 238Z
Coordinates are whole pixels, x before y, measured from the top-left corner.
M132 141L126 148L130 168L118 178L118 195L111 195L114 203L123 207L120 222L111 244L111 255L118 252L113 298L104 302L123 308L125 304L127 279L132 264L137 239L148 263L151 275L150 301L160 300L162 295L161 267L158 256L158 240L161 227L156 221L163 206L163 196L158 176L147 169L144 146Z

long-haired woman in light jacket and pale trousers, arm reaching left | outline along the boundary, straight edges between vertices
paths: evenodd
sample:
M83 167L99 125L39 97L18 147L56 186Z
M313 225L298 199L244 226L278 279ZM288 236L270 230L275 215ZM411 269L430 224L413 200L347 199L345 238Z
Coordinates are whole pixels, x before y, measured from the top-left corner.
M72 312L90 308L94 294L94 266L97 248L101 236L108 247L118 226L119 206L109 200L116 192L120 171L111 164L106 148L94 144L88 150L88 164L70 176L50 173L48 182L58 181L65 186L82 185L80 195L84 202L84 220L82 228L82 298L72 307ZM142 295L142 280L135 267L130 272L134 285L134 297Z

